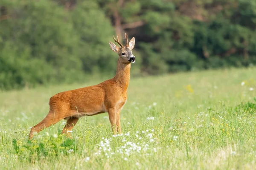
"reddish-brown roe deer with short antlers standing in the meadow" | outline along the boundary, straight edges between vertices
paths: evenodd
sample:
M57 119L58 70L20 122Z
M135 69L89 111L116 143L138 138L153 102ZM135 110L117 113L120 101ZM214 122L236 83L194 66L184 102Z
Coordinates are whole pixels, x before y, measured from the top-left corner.
M113 39L121 46L119 48L109 41L110 48L119 55L115 77L98 85L64 91L52 96L49 99L49 113L31 128L29 139L32 139L33 133L38 133L61 119L67 119L62 133L69 133L81 116L105 112L108 112L113 133L121 133L120 111L127 100L131 63L135 62L131 51L135 45L135 38L133 37L128 44L128 36L125 33L125 45L119 42L118 36L117 40L114 36Z

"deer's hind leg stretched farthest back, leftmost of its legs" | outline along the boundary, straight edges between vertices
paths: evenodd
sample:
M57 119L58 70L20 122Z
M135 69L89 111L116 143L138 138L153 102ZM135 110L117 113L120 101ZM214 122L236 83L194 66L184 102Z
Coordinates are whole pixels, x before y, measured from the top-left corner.
M55 113L55 111L49 111L47 116L37 125L31 128L29 133L29 139L32 139L34 136L34 132L40 132L41 130L49 127L50 125L54 125L57 122L59 122L61 119L64 119L64 117L61 117Z

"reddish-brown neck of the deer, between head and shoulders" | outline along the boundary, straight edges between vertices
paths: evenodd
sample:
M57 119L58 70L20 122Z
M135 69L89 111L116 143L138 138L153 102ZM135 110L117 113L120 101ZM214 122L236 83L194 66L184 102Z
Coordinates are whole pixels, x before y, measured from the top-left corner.
M117 60L116 76L113 78L123 91L127 91L130 81L131 63L123 63L119 58Z

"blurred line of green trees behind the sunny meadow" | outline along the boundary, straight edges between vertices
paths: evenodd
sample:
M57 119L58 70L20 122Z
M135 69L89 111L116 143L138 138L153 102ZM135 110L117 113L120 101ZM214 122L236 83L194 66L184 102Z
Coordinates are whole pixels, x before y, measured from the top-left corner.
M124 32L134 74L248 66L255 28L254 0L1 0L0 88L114 74L108 41Z

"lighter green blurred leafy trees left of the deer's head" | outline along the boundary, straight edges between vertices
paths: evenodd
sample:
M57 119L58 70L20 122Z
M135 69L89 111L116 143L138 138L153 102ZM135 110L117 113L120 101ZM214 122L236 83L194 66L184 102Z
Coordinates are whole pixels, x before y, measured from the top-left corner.
M1 88L113 72L115 58L108 47L113 29L97 3L83 1L70 12L51 0L3 0L3 5L12 19L0 21Z

